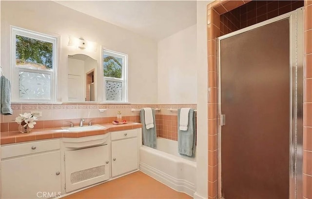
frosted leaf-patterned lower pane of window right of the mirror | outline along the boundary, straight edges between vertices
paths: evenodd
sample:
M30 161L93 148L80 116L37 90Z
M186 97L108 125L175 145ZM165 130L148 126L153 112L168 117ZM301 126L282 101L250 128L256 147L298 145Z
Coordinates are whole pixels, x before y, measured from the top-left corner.
M106 100L122 101L122 82L106 81Z

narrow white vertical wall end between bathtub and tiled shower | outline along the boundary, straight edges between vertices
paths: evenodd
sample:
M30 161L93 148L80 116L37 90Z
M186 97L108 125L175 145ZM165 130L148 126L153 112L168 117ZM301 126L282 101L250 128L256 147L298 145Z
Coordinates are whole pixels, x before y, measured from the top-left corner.
M195 199L208 198L207 4L197 0L197 171Z

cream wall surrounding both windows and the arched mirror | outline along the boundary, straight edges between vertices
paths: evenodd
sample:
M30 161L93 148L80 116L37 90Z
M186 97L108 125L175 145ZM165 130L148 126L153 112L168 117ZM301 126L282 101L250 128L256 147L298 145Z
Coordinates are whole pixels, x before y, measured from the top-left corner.
M67 101L67 55L87 54L101 63L101 48L128 54L129 101L157 102L157 43L53 1L1 1L1 66L10 77L10 25L58 36L58 100ZM68 37L97 43L97 52L67 46ZM100 70L99 70L100 71ZM98 73L98 77L100 73ZM103 81L98 81L98 91ZM102 100L102 99L99 99Z

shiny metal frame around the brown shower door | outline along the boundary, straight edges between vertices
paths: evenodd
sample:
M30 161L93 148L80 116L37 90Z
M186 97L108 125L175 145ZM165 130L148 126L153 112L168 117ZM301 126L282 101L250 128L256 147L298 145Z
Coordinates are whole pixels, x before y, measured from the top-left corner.
M217 182L218 199L222 196L222 162L221 162L221 66L220 41L232 36L265 26L278 20L290 21L290 162L289 162L289 199L302 198L302 136L303 136L303 7L280 15L270 20L256 23L217 38ZM301 30L301 31L298 31ZM293 39L295 37L295 39ZM299 121L298 121L299 120ZM301 122L300 122L301 121ZM226 125L226 124L225 124Z

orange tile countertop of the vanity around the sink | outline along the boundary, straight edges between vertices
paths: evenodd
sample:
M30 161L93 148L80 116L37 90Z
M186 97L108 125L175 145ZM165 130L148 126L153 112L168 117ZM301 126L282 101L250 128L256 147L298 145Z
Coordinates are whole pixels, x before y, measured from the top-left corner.
M96 136L106 134L112 131L122 131L142 127L142 124L137 122L128 122L127 124L118 124L118 125L114 125L112 123L99 125L105 126L105 128L100 130L89 130L77 133L61 132L61 130L63 130L62 128L37 129L33 130L30 133L20 133L17 131L5 132L0 134L0 144L2 145L2 144L10 144L42 139L53 139L53 138L80 138L85 136Z

